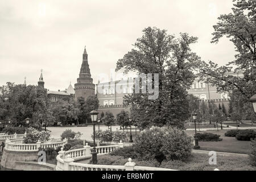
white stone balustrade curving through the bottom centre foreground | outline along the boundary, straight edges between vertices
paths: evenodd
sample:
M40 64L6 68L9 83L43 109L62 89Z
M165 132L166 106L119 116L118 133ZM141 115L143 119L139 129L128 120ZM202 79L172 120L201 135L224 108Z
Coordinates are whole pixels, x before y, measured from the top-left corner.
M120 141L118 145L114 146L100 146L96 147L98 155L109 154L109 152L114 151L117 148L122 148L123 143ZM98 165L98 164L83 164L77 163L76 160L81 160L85 158L91 158L91 151L93 147L86 146L84 148L79 148L70 151L59 151L57 155L57 171L176 171L174 169L167 168L156 168L156 167L144 167L144 166L135 166L134 162L131 162L131 158L125 164L125 166L113 166L113 165Z

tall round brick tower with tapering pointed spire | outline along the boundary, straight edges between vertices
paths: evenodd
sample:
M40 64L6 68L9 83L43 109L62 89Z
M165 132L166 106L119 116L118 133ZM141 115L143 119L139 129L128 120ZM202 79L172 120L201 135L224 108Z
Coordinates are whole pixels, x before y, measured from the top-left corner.
M77 98L79 97L83 97L84 100L86 100L86 98L94 96L94 94L95 85L93 84L93 78L91 78L90 75L88 54L86 52L86 48L84 48L79 78L77 78L77 83L75 84L75 101L77 101Z

